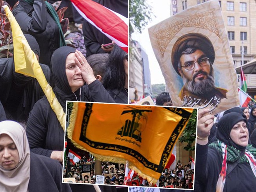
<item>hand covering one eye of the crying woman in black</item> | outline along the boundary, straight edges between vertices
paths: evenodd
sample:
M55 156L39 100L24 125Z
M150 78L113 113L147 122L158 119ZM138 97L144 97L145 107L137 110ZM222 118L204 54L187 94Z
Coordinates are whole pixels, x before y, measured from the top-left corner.
M91 68L91 66L89 65L89 63L87 62L87 60L85 59L85 57L80 51L76 50L75 54L76 54L76 58L75 58L76 65L80 68L82 72L83 80L85 80L87 85L89 85L90 83L96 80L93 74L93 69Z

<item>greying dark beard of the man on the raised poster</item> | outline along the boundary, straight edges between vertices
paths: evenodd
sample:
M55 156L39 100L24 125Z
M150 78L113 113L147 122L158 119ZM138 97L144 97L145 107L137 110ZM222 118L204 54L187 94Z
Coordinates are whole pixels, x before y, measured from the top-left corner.
M206 79L202 79L199 82L195 82L195 78L198 74L206 75ZM209 94L214 89L214 77L213 77L213 70L211 69L210 74L207 74L204 71L198 71L194 76L193 80L189 81L187 78L183 76L184 87L193 94L196 95L204 95Z

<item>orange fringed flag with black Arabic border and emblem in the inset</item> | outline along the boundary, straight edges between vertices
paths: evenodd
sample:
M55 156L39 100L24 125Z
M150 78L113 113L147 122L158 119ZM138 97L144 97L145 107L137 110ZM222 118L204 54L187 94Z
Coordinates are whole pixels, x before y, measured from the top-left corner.
M73 103L68 137L101 161L129 162L156 183L193 109L104 103Z

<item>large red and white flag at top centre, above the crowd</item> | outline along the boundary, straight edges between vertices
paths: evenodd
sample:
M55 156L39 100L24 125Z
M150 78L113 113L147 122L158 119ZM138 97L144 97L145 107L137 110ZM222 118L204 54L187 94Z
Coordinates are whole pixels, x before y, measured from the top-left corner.
M71 0L89 23L128 53L128 18L92 0Z

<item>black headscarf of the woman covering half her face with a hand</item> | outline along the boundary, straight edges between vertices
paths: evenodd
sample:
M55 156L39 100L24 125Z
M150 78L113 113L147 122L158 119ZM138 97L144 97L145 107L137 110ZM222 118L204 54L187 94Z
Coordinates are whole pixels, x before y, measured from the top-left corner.
M80 92L80 89L76 90L74 93L72 92L66 75L67 56L75 51L75 48L63 46L54 51L51 59L51 72L55 83L53 90L64 111L66 101L76 101L76 96L79 96ZM76 94L76 96L74 94ZM81 97L82 96L83 94L81 94Z

